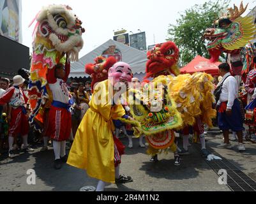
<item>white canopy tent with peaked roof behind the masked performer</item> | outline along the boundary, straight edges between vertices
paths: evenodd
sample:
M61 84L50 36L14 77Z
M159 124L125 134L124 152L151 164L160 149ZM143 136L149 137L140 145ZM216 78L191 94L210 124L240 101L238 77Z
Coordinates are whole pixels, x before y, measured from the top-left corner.
M140 80L142 80L145 75L147 61L147 54L145 52L128 47L127 45L118 43L114 40L108 40L100 45L100 47L97 47L93 51L84 55L84 57L81 57L78 62L73 62L71 64L70 77L89 77L89 75L84 72L84 67L88 63L94 63L94 58L99 55L103 55L104 57L113 55L117 60L130 64L133 76Z

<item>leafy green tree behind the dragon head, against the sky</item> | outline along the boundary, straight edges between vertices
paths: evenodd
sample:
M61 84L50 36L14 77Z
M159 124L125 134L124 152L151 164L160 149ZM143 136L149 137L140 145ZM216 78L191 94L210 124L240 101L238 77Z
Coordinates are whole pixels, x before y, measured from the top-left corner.
M207 27L211 27L218 18L218 13L226 10L230 0L207 1L204 4L195 4L192 8L179 13L176 25L169 25L168 39L179 47L180 64L184 66L197 55L209 58L206 43L202 35Z

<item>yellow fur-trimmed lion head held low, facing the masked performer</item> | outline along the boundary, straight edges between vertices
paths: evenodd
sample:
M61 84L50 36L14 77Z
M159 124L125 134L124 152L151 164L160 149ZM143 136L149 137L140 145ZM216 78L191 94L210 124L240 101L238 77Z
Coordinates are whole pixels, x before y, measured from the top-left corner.
M133 135L145 135L150 147L148 154L156 154L168 147L175 152L173 129L181 128L183 122L176 103L168 94L165 84L144 84L142 90L130 89L130 112L140 123Z

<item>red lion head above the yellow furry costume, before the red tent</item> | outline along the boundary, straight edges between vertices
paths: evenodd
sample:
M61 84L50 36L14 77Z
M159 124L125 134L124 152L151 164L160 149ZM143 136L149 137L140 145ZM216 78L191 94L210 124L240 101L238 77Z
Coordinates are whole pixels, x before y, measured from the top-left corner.
M159 75L179 75L177 61L179 49L172 41L156 45L147 52L146 78L158 77Z

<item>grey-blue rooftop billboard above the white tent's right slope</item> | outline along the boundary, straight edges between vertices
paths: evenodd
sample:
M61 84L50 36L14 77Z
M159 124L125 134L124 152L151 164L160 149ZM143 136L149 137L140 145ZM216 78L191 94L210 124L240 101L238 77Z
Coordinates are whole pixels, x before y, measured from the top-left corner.
M130 46L140 51L146 51L146 33L135 33L130 35Z

